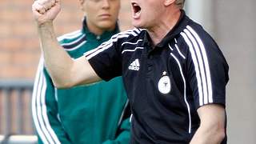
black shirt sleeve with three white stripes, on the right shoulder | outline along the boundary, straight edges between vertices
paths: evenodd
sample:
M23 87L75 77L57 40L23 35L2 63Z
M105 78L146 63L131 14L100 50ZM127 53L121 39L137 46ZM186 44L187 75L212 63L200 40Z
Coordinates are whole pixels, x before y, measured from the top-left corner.
M194 106L208 104L226 106L226 84L229 66L214 39L196 26L188 26L182 34L189 46L186 58L187 82Z

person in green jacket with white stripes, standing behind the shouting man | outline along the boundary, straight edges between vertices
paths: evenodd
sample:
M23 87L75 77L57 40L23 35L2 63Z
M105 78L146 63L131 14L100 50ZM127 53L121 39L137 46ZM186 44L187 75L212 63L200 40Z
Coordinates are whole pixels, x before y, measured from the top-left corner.
M119 32L120 0L79 0L82 30L58 38L71 58ZM130 110L122 78L59 90L41 58L34 82L32 111L39 143L128 143ZM127 116L127 117L126 117Z

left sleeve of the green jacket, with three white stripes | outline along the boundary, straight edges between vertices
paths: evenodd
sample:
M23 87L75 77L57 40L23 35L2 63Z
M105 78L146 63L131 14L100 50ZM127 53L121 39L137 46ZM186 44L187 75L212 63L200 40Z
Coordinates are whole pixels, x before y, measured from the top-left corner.
M42 58L34 81L32 114L38 143L70 143L58 118L54 85Z

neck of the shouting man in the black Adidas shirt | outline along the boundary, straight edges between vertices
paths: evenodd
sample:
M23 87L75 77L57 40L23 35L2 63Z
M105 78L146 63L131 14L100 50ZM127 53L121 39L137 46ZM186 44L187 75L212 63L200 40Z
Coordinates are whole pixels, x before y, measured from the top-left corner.
M173 14L170 14L170 17L164 18L162 22L159 22L158 26L147 29L154 46L161 42L162 38L164 38L166 34L174 28L180 18L180 15L181 11L178 10Z

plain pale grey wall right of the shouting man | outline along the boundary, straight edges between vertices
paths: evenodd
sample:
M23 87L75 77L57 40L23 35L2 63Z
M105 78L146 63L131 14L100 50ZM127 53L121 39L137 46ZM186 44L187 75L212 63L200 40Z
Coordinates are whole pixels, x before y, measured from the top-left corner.
M214 37L230 66L228 143L256 143L256 1L186 0L186 12Z

